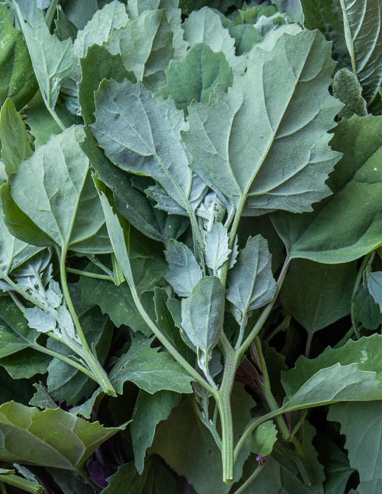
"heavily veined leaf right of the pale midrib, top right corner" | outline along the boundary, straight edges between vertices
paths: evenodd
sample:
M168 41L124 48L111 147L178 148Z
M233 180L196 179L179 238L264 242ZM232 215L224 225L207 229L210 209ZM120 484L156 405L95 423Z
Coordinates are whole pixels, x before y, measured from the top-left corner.
M340 0L340 4L351 67L369 104L382 82L382 6L375 0Z

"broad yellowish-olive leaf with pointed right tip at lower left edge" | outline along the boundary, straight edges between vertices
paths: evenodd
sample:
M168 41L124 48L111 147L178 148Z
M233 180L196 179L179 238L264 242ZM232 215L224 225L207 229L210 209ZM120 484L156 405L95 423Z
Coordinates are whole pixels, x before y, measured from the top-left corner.
M0 406L0 459L81 471L85 460L124 426L105 428L61 409Z

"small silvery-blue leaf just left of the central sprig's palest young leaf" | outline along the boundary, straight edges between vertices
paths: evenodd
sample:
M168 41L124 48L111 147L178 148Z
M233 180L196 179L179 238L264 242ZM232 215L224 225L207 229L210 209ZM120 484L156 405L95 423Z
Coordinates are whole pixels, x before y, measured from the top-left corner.
M169 272L166 280L180 297L188 297L202 278L202 270L192 251L183 243L170 240L166 249Z

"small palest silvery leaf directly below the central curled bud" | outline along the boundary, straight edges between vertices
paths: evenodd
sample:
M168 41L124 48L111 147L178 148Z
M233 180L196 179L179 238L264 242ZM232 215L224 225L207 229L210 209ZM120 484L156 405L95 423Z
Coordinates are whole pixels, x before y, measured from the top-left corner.
M222 223L214 223L206 233L206 264L212 269L213 276L218 276L219 268L228 259L231 249L228 248L228 231Z

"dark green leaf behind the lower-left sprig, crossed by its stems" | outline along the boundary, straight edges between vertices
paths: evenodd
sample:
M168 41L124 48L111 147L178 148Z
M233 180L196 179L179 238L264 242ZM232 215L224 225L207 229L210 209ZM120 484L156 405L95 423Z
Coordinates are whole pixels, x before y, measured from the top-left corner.
M100 364L103 365L113 336L107 317L102 316L98 308L93 307L80 314L80 323L90 348L94 346L95 354ZM73 354L67 346L51 337L46 346L61 355ZM77 405L80 400L91 395L96 388L96 383L83 372L62 360L53 359L48 367L47 388L54 400L65 400L68 405Z

